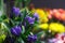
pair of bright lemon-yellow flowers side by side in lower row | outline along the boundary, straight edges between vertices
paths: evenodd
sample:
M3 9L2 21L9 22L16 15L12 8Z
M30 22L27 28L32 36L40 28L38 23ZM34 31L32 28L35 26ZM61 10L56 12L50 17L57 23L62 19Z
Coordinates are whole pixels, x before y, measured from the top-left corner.
M65 26L63 26L62 24L58 24L58 23L51 23L50 25L49 24L41 24L39 25L39 28L41 29L49 29L51 30L52 32L65 32Z

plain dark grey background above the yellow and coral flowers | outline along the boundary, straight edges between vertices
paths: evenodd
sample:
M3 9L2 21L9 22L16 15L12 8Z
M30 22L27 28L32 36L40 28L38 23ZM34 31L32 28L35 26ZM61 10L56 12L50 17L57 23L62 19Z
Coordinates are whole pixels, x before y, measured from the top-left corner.
M31 0L35 8L65 9L65 0Z

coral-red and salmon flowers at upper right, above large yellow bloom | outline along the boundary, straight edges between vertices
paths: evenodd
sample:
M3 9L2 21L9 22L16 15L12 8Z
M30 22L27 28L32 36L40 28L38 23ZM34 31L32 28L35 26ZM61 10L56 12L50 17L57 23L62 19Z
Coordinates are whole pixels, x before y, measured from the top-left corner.
M58 20L65 22L65 11L63 9L58 9L58 10L54 9L54 10L51 10L50 11L49 18L52 18L52 17L54 17L54 18L56 18Z

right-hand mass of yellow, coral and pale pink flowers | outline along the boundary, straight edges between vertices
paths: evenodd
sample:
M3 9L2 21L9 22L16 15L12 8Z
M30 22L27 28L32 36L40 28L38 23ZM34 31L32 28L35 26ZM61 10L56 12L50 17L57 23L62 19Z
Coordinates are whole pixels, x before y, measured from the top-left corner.
M37 11L39 15L40 24L38 28L42 29L46 33L42 37L43 38L42 41L46 41L46 43L65 43L65 17L64 17L65 10L63 9L53 9L53 10L37 9L35 11ZM62 38L64 40L62 40Z

